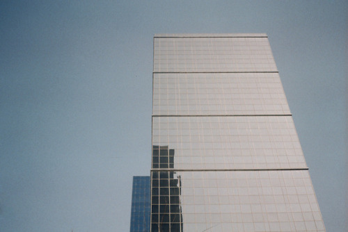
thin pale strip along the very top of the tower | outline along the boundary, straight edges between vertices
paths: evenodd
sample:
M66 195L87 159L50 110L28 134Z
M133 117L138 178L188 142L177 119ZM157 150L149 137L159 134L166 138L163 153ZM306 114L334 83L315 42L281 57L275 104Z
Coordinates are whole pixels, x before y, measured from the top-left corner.
M243 37L267 37L266 33L221 33L221 34L166 34L158 33L155 34L155 38L219 38L219 37L230 37L230 38L243 38Z

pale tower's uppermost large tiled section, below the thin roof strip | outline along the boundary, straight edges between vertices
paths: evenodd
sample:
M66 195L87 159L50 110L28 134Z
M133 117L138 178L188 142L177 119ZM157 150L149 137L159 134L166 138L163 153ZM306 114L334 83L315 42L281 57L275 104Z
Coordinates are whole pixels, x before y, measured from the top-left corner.
M155 38L154 72L277 72L267 38Z

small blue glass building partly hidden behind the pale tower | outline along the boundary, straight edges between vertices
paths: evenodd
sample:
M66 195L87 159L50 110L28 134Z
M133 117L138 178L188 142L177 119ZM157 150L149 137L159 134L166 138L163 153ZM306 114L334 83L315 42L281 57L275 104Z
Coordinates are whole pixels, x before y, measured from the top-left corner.
M133 176L130 232L150 231L150 176Z

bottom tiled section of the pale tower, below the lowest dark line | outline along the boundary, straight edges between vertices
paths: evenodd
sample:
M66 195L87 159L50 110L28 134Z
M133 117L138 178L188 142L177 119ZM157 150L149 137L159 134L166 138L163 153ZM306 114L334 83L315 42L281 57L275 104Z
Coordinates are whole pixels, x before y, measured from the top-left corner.
M152 231L169 228L290 232L324 224L308 170L152 172Z

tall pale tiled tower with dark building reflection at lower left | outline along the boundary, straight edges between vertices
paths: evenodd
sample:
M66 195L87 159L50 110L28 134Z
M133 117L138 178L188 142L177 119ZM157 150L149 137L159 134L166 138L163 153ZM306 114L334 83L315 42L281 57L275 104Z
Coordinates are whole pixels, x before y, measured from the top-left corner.
M325 231L266 34L154 38L151 231Z

